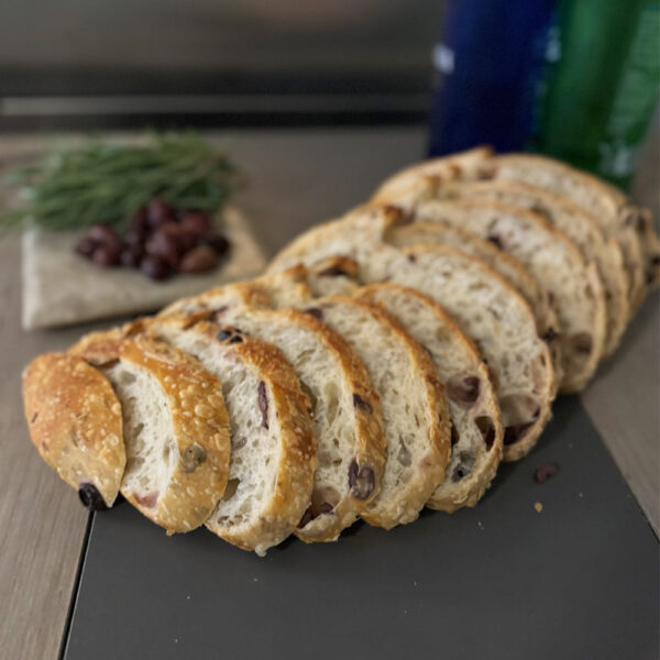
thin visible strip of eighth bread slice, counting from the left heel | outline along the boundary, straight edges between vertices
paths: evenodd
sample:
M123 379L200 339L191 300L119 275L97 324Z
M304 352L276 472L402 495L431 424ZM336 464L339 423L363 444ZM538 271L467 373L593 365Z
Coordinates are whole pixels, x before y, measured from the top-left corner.
M386 232L385 240L396 248L407 248L420 243L455 248L477 256L499 273L529 304L537 321L539 337L544 338L550 348L554 381L559 387L563 377L563 364L561 342L559 341L559 321L552 297L517 260L496 248L491 241L481 239L464 229L440 222L415 222L393 227Z

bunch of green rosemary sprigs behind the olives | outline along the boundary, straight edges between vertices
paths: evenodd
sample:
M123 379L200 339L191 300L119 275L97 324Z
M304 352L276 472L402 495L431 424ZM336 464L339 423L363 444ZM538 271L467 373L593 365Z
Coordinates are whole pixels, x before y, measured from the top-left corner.
M31 221L48 229L97 222L123 229L153 197L179 209L215 212L240 186L227 156L197 133L150 133L145 144L90 141L8 174L25 204L0 212L0 232Z

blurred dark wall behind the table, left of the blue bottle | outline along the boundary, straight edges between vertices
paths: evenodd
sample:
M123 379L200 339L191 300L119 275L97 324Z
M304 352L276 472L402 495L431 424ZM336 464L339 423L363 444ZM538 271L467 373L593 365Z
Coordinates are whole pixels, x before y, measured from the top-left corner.
M14 0L0 129L419 120L433 0Z

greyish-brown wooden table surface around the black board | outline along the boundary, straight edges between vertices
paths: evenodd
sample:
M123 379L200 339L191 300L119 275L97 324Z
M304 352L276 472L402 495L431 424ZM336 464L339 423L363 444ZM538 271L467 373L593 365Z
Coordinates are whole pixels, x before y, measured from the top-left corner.
M215 139L218 136L213 136ZM376 184L417 160L421 129L241 131L219 138L250 174L237 200L267 254L310 224L363 200ZM43 138L0 138L0 165L38 154ZM657 134L650 140L657 144ZM658 154L648 148L634 193L658 218ZM19 241L0 241L0 649L12 660L57 657L80 558L87 513L32 448L22 417L20 374L37 353L62 350L95 326L25 333L20 328ZM583 403L658 534L660 315L646 301L618 353ZM103 323L97 323L101 327Z

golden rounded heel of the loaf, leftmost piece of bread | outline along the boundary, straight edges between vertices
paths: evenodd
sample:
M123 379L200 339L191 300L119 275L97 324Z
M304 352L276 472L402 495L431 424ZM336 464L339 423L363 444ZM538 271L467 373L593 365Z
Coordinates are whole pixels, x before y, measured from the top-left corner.
M42 459L90 510L112 506L127 463L121 407L85 360L45 353L23 372L25 421Z

